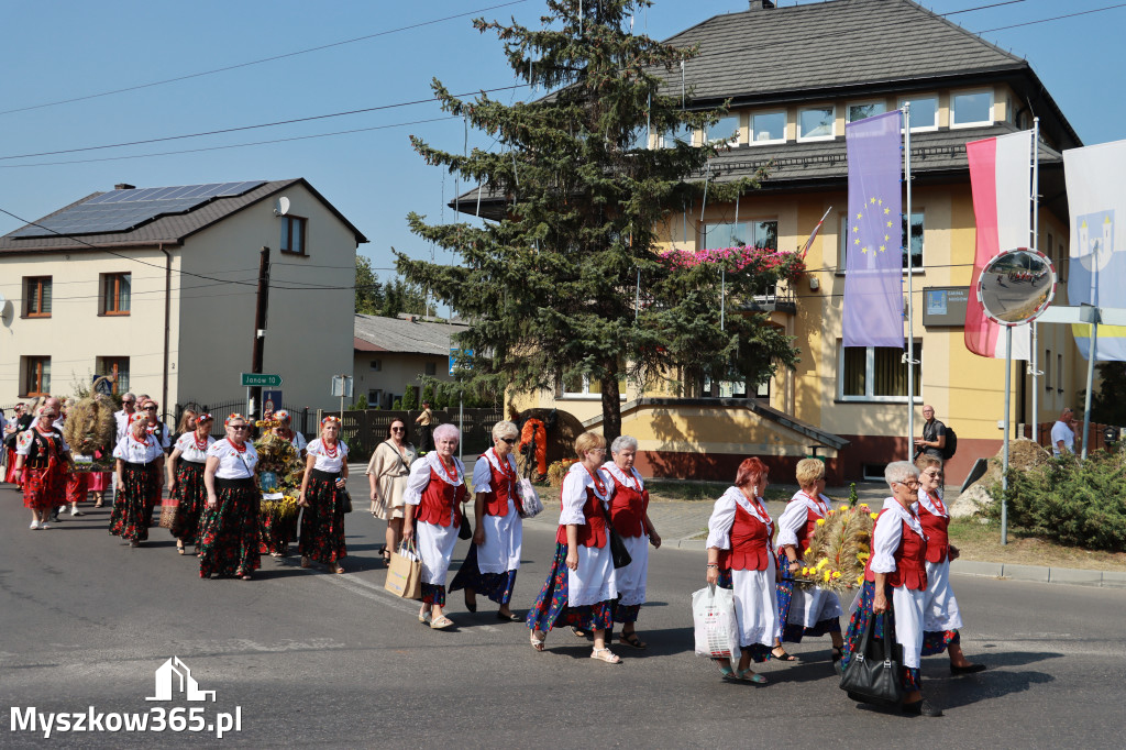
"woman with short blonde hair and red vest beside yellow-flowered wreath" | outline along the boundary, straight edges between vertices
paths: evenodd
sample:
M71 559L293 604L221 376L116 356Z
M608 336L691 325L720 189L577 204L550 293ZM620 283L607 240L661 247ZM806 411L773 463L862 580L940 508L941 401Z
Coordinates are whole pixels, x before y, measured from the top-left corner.
M824 462L817 458L797 462L797 484L802 489L794 493L786 510L778 517L778 570L783 577L778 583L781 641L801 643L805 636L817 637L828 633L833 642L833 666L839 670L844 646L840 599L821 587L794 588L794 573L802 569L802 559L810 548L810 537L817 527L817 520L829 517L830 501L823 494ZM780 645L771 653L781 661L794 659Z

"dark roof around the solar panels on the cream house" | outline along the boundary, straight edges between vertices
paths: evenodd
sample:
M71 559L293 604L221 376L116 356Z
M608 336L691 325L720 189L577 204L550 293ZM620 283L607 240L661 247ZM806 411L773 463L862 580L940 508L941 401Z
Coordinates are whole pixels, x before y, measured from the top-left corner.
M101 234L75 234L75 235L57 235L57 236L32 236L32 238L14 238L11 234L6 234L0 236L0 255L8 253L23 253L23 252L34 252L38 250L72 250L81 251L90 249L90 245L97 245L98 248L129 248L129 247L154 247L157 244L166 245L177 245L182 244L184 240L191 236L196 232L204 230L216 222L226 218L231 214L238 213L248 206L257 204L259 202L266 200L267 198L294 186L302 185L310 193L316 196L325 205L329 211L331 211L337 218L343 222L348 229L352 231L356 235L356 242L367 242L367 238L343 214L336 209L336 207L324 199L316 189L313 188L304 178L288 179L288 180L272 180L270 182L263 182L259 187L244 193L240 196L234 196L231 198L215 198L209 203L189 211L185 214L176 214L171 216L161 216L155 221L149 222L142 226L126 232L111 232ZM101 195L101 193L92 193L69 206L63 206L59 211L37 220L36 223L42 223L44 220L61 214L62 212L72 208L90 198ZM23 227L21 227L23 229ZM19 230L16 230L17 232Z

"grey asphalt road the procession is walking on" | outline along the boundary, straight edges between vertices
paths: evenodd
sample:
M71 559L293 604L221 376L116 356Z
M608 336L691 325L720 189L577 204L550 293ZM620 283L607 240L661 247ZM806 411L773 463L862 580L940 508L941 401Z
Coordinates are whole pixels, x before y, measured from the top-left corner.
M968 623L963 644L989 670L951 678L924 661L924 689L946 709L908 718L858 707L838 689L826 640L790 646L765 687L721 681L692 653L691 591L699 552L650 557L638 631L645 652L590 660L588 643L555 631L528 646L522 623L500 623L452 598L452 632L415 620L417 605L383 588L383 524L348 517L349 573L304 571L266 557L253 581L200 580L164 529L132 550L106 533L108 509L30 532L20 498L0 489L0 747L1121 747L1126 591L955 579ZM63 516L68 519L68 516ZM554 548L549 528L525 534L513 597L524 611ZM455 565L465 552L459 543ZM187 664L214 703L149 702L154 670ZM241 712L241 731L14 731L38 712L153 707Z

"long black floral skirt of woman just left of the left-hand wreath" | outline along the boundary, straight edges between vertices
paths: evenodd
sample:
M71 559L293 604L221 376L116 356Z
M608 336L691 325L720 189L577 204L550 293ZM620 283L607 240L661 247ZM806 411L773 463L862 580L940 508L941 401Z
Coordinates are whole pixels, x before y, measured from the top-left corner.
M199 519L199 578L250 575L261 565L258 503L252 480L215 480L216 502Z

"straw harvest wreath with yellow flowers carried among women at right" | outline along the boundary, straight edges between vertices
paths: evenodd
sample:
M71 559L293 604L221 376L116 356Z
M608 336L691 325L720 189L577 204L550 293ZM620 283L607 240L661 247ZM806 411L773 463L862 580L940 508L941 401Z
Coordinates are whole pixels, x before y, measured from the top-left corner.
M847 591L864 583L864 566L872 556L872 528L876 514L866 503L841 505L819 518L797 586L820 586ZM815 561L815 562L814 562Z

